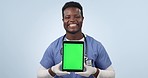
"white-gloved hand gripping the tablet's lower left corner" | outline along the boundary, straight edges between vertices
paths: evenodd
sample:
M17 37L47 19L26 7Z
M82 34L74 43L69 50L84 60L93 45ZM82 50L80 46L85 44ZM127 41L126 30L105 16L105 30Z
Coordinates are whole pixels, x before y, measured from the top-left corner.
M52 66L51 67L51 70L58 76L62 76L62 75L66 75L66 74L70 74L70 72L66 72L66 71L61 71L60 70L60 65L62 65L62 61L55 65L55 66Z

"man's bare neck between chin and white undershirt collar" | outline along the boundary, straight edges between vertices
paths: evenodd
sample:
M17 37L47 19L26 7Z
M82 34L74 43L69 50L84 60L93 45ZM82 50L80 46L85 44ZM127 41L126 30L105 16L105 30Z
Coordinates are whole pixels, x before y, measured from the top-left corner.
M69 40L80 40L83 38L83 33L75 33L75 34L70 34L70 33L66 33L66 38Z

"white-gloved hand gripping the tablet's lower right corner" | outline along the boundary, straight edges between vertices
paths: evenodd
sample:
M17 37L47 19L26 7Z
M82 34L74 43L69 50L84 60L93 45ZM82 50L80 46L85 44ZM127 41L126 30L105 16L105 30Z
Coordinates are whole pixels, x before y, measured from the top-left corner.
M92 66L88 66L88 65L84 64L84 67L85 67L86 71L84 71L84 72L75 72L75 73L79 74L81 76L84 76L84 77L89 77L90 75L95 74L96 71L97 71L97 68L92 67Z

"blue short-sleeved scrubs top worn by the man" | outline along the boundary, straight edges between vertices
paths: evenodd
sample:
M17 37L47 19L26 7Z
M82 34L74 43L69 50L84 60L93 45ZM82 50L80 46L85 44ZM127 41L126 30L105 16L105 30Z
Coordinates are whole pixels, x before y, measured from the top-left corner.
M101 70L107 69L112 63L111 60L103 47L103 45L96 41L94 38L86 35L87 41L87 57L92 60L92 66ZM62 60L61 48L62 48L63 36L55 40L46 49L40 64L45 68L51 68L58 64ZM84 46L86 49L86 46ZM55 76L55 78L86 78L71 72L69 75ZM91 75L88 78L93 78Z

